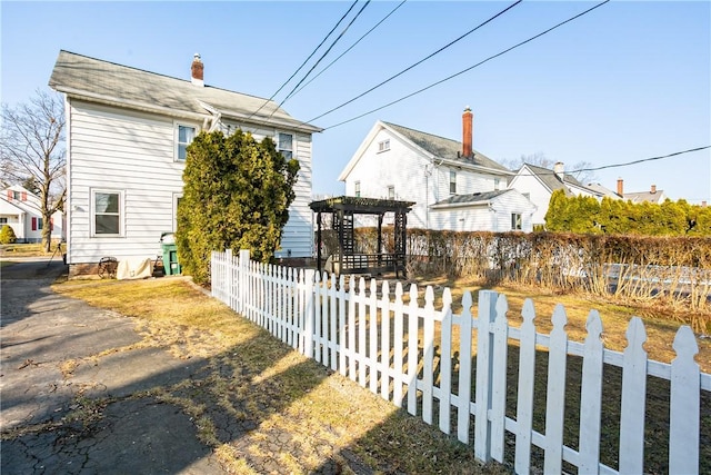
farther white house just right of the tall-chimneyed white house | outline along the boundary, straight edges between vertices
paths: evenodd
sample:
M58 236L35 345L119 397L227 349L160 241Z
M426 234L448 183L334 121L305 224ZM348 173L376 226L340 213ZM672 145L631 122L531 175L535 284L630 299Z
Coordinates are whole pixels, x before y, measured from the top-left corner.
M552 170L524 164L509 181L509 188L519 190L535 205L533 226L545 225L548 205L555 190L562 189L567 196L591 196L598 199L608 195L602 188L584 186L572 175L565 174L562 162L555 164Z

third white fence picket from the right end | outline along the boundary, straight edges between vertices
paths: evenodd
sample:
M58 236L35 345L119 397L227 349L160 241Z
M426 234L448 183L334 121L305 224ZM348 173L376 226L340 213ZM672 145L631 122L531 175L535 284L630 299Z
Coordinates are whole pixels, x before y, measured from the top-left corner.
M602 408L602 320L598 310L588 316L580 395L579 474L599 473L600 414Z

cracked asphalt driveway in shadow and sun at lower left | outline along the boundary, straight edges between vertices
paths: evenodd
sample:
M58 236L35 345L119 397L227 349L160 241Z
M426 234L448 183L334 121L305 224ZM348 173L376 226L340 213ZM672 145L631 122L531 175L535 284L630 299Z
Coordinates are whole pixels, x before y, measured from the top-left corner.
M67 271L61 259L18 260L0 268L0 472L226 473L187 414L141 396L206 362L150 347L110 352L141 339L133 319L52 293Z

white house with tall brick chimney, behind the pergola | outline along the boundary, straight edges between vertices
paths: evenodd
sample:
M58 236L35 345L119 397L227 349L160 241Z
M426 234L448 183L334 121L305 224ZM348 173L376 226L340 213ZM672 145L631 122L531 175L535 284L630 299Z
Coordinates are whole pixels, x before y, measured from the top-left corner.
M513 172L472 148L469 108L462 131L457 141L377 121L339 176L346 195L415 202L409 228L531 230L533 205L507 189Z

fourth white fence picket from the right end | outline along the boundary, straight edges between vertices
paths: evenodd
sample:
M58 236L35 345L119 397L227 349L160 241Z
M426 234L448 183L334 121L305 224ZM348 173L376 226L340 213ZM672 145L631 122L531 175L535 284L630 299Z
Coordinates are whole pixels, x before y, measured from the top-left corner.
M563 414L565 409L565 364L568 358L568 323L565 309L558 304L553 310L553 330L548 356L548 389L545 399L545 458L543 472L558 474L563 461Z

